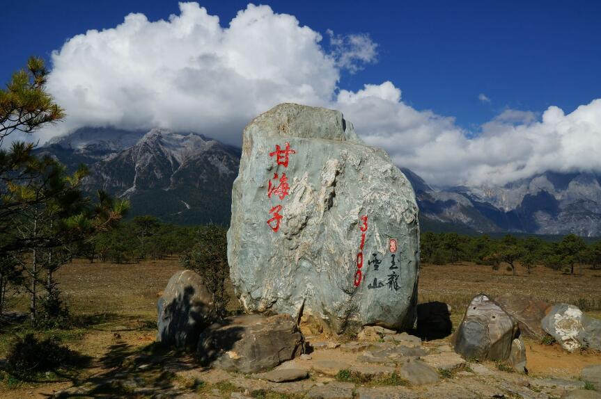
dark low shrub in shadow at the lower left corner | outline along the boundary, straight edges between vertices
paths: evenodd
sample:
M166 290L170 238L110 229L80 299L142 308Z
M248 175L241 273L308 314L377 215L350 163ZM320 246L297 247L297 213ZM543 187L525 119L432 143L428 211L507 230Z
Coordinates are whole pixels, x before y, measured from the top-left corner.
M22 380L36 373L52 371L67 364L71 357L69 348L60 345L56 337L39 341L33 334L18 337L11 343L6 355L7 371Z

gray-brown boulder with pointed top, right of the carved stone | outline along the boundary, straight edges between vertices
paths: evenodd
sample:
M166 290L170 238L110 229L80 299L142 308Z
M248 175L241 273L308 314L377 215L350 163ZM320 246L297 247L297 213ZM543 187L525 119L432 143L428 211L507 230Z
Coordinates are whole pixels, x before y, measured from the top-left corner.
M516 332L515 321L497 302L476 295L453 336L455 352L465 359L506 360Z

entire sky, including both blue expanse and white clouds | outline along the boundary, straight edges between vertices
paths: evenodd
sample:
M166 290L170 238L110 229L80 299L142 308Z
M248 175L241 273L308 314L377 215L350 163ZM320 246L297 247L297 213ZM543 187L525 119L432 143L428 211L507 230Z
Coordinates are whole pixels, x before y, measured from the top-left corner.
M295 101L340 109L437 184L601 171L599 1L263 4L8 0L0 79L53 58L68 120L44 139L160 126L239 145L253 115Z

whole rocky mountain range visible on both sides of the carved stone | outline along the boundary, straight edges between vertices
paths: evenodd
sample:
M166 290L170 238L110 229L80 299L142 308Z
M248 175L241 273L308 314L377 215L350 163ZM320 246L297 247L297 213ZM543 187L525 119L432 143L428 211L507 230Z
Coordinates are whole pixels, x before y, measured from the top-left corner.
M69 170L90 169L84 189L128 197L132 214L166 222L227 225L240 149L194 132L81 128L49 141ZM601 236L601 176L545 172L504 186L433 187L411 181L423 230Z

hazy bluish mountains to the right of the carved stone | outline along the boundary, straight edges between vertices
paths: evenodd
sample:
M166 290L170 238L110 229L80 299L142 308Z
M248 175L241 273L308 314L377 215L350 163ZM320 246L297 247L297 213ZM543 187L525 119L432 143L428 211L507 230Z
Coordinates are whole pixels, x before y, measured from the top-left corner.
M410 170L421 217L479 232L601 236L600 177L545 172L505 186L435 189Z

